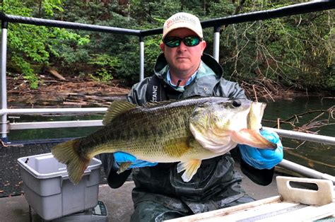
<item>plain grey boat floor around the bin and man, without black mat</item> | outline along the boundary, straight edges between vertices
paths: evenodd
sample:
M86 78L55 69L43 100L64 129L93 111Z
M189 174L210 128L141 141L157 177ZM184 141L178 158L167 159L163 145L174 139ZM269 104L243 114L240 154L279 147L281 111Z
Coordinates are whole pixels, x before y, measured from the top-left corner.
M254 184L244 176L242 184L246 192L255 199L264 199L278 195L276 182L263 187ZM133 187L134 182L132 181L126 182L119 189L112 189L106 184L99 186L98 199L107 207L108 221L126 222L130 220L131 213L134 211L133 202L131 201L131 189ZM23 194L0 198L0 209L2 209L1 218L6 218L6 221L30 221L30 216L31 221L42 221L33 210L30 215L29 205Z

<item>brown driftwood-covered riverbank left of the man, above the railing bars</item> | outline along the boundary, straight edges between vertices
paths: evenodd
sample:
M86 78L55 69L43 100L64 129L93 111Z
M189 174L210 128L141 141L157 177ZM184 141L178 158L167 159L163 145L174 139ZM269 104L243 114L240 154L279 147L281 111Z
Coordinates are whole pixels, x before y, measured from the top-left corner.
M58 80L48 76L41 76L36 89L30 88L24 78L7 78L7 83L9 108L108 107L130 89L120 87L117 81L107 84L88 78Z

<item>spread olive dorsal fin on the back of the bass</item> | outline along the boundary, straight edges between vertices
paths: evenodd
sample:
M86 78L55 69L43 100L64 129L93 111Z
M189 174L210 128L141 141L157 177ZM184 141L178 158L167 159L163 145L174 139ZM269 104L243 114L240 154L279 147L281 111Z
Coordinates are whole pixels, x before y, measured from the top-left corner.
M117 117L118 115L122 114L123 112L126 112L127 110L131 110L136 105L134 103L129 103L127 101L114 101L110 107L108 107L108 110L105 114L105 118L102 121L102 124L107 125L109 124L112 119Z

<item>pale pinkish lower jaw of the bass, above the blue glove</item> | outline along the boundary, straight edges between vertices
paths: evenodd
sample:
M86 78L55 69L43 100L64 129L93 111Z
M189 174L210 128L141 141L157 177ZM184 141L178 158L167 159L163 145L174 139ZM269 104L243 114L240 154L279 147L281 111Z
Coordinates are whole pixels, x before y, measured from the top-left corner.
M237 144L246 144L256 148L277 148L276 144L261 136L258 130L253 129L241 129L239 132L234 131L231 134L231 139Z

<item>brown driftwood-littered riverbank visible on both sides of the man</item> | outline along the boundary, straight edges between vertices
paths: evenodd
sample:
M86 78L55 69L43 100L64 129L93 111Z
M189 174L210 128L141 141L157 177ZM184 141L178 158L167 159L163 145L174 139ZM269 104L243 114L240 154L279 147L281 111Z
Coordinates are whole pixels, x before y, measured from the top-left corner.
M60 80L52 76L40 76L40 81L40 86L32 89L24 78L8 77L8 108L108 107L113 100L125 97L130 90L117 81L107 84L90 78L67 77L66 80ZM326 93L308 93L284 88L264 80L259 81L259 84L242 81L241 87L252 100L275 101L301 96L331 96Z

